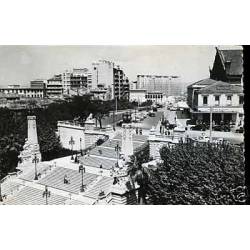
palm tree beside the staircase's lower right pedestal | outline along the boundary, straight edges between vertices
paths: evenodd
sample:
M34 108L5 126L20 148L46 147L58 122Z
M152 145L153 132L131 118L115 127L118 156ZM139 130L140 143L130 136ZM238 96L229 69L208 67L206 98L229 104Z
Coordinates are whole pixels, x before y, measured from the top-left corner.
M138 189L138 204L147 204L147 186L150 181L149 169L137 163L136 156L132 157L132 161L128 163L128 175L130 176L133 188L135 183L139 185Z

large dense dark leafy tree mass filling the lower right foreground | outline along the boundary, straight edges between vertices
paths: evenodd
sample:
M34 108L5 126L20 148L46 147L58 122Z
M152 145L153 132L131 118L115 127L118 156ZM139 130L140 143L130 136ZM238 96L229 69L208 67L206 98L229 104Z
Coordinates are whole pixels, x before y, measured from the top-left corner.
M154 204L242 204L244 152L229 144L180 143L160 151L163 163L151 173Z

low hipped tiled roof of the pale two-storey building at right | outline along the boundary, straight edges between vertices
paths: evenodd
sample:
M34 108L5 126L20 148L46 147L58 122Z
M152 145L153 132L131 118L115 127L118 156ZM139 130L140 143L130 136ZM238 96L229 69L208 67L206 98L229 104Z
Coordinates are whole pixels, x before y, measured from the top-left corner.
M198 94L237 94L243 93L242 86L233 85L227 82L216 81L215 84L204 87Z

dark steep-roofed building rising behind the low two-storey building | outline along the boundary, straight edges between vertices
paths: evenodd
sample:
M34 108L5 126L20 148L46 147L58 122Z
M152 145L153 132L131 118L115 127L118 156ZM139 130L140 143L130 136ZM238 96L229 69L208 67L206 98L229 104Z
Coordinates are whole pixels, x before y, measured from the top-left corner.
M241 47L216 47L216 55L213 68L210 70L210 78L242 85L243 74L243 50Z

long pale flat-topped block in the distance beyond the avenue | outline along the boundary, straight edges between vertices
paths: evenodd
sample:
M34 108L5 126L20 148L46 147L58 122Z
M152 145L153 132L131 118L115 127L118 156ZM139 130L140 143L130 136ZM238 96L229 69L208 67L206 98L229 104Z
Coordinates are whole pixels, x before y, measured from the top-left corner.
M137 75L136 88L146 89L148 92L162 92L166 96L183 94L183 85L179 76Z

